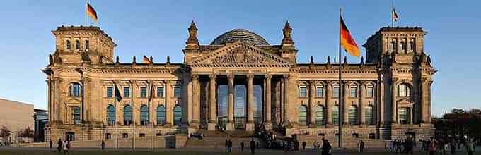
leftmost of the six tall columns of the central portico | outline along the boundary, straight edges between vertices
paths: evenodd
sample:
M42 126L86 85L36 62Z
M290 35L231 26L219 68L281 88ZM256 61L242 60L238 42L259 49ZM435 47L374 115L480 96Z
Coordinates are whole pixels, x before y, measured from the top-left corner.
M200 86L199 75L192 75L192 125L200 123Z

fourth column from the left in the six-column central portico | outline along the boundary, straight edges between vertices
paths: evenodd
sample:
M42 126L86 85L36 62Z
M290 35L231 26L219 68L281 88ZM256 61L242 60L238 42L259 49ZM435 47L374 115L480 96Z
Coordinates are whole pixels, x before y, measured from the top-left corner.
M253 87L254 75L247 75L247 124L245 124L245 130L254 130L254 87Z

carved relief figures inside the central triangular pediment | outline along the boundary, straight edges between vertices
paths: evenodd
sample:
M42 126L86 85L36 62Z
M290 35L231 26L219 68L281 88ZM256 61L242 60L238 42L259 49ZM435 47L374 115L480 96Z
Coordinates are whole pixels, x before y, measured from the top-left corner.
M264 63L265 58L255 56L252 51L239 47L228 51L224 56L217 56L214 63Z

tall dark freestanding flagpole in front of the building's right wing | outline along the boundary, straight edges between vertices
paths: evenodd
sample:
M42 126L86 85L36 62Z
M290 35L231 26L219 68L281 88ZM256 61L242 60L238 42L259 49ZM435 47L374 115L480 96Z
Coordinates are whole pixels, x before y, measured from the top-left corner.
M337 141L337 145L339 148L342 147L342 120L341 120L341 106L342 106L342 73L341 73L341 8L339 8L339 94L337 96L339 97L339 106L337 106L337 110L339 111L337 114L339 115L339 122L337 123L337 129L339 130L339 140Z

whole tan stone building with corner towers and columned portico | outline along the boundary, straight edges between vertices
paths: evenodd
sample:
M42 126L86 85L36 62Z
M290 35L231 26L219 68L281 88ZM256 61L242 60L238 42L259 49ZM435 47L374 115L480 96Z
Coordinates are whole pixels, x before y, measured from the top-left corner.
M383 27L364 44L366 61L344 58L342 64L330 58L297 63L289 23L280 45L242 29L201 45L195 23L188 32L184 63L137 63L135 57L120 63L116 44L100 28L57 27L56 50L43 69L50 111L45 137L103 140L199 128L254 130L258 124L285 135L335 137L338 122L349 138L434 135L436 70L423 48L427 32L419 27Z

